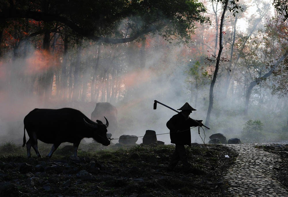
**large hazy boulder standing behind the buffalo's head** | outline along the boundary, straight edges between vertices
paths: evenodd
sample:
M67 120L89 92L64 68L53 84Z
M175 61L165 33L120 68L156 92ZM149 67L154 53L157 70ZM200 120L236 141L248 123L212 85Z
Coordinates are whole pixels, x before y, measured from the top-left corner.
M109 121L109 126L107 128L108 132L112 135L115 134L115 131L118 127L118 120L117 120L118 111L115 106L111 105L110 103L96 103L96 107L94 111L91 113L91 120L96 122L96 120L101 120L103 124L106 123L104 116Z

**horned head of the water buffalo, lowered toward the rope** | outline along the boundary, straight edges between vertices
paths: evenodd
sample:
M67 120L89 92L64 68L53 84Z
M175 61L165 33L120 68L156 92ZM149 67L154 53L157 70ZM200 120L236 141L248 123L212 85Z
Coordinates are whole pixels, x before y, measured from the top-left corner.
M103 124L100 120L97 120L95 124L90 124L86 122L84 119L84 122L86 125L88 125L90 128L92 128L92 138L98 142L103 144L104 146L110 145L110 141L107 138L107 127L109 126L109 122L107 118L104 116L106 120L106 124Z

